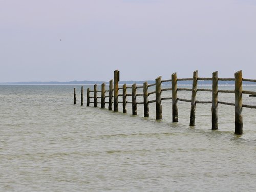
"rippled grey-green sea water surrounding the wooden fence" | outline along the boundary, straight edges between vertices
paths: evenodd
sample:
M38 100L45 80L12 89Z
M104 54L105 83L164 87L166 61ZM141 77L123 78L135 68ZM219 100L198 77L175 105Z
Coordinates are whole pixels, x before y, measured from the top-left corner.
M187 102L178 101L173 123L170 100L162 101L163 120L155 120L155 103L150 117L143 105L133 116L131 104L126 114L122 104L120 112L87 107L86 98L80 106L79 91L0 86L0 191L255 191L255 109L243 109L244 134L234 135L234 106L219 104L219 130L211 131L211 104L197 104L190 127ZM198 92L197 100L211 100L211 93ZM219 93L219 100L234 102L234 94ZM256 97L243 101L256 105Z

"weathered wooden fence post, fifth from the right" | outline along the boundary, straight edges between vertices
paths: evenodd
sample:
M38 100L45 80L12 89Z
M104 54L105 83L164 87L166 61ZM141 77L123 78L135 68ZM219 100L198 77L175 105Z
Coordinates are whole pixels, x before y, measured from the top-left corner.
M162 119L161 79L162 79L161 76L156 78L156 119Z

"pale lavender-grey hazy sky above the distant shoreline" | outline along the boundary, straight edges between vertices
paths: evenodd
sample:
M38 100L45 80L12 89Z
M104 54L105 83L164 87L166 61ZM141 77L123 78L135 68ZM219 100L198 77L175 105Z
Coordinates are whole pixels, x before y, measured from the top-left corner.
M256 0L0 0L0 82L256 79Z

